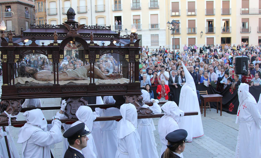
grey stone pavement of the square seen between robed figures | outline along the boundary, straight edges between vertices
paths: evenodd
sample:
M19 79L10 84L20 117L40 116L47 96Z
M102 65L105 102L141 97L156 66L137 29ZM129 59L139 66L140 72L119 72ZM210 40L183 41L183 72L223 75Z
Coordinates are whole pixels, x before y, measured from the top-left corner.
M0 80L1 84L2 77ZM2 93L1 89L0 93ZM41 99L43 106L59 106L60 101L61 98ZM57 110L44 111L46 119L51 119L56 111ZM204 114L201 115L204 135L202 137L194 138L191 143L186 143L185 151L183 152L184 158L234 157L238 135L238 124L235 124L236 115L223 112L222 116L220 116L220 111L218 112L219 113L216 113L216 109L211 109L211 111L208 109L206 110L206 117L204 117ZM25 120L23 113L19 113L17 120ZM160 156L161 143L157 131L158 120L159 118L153 118L156 127L154 135L157 143L157 151ZM19 129L20 128L12 127L12 135L17 150L21 155L22 144L16 143ZM51 151L55 158L62 158L62 143L52 145Z

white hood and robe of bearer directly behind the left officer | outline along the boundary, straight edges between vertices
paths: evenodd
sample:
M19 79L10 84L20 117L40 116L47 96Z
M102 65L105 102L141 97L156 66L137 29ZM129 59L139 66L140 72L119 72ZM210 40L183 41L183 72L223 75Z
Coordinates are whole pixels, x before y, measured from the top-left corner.
M93 111L89 106L80 106L76 113L75 113L77 119L79 121L74 122L73 124L71 124L71 127L80 124L80 123L84 123L85 124L85 130L86 131L92 131L93 129L93 121L96 119L96 116L93 115ZM96 146L93 140L93 135L92 133L90 133L88 135L88 142L87 142L87 146L85 148L83 148L81 151L84 155L85 158L96 158L97 157L97 150L96 150Z

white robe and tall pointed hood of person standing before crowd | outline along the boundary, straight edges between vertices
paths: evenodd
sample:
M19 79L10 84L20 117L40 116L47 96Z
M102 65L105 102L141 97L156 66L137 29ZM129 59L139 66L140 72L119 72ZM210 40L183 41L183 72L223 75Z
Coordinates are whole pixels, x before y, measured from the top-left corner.
M198 114L180 118L181 123L178 125L180 129L184 129L188 132L187 139L189 142L192 142L192 138L201 137L204 135L204 131L195 82L183 63L182 66L185 73L186 83L182 86L180 91L179 109L184 112L197 111Z

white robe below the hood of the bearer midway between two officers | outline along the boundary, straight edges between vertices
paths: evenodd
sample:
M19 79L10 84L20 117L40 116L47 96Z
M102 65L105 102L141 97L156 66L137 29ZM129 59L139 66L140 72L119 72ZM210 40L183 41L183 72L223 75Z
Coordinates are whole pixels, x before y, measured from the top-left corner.
M139 133L136 129L124 138L118 139L115 158L142 158Z

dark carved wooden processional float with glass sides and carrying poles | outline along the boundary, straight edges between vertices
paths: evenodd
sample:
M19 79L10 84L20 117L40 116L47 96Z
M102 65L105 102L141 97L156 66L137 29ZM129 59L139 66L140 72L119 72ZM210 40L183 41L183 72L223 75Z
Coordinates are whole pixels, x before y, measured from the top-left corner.
M75 21L75 11L69 8L67 21L61 25L32 25L26 31L21 28L21 35L14 35L11 31L1 31L1 59L3 71L3 85L0 102L0 126L11 125L21 127L26 121L16 121L15 115L34 108L22 108L25 99L33 98L62 98L66 99L66 115L68 119L63 123L72 124L77 121L75 112L81 105L86 105L85 97L113 95L115 104L95 105L95 107L120 107L124 103L132 103L137 108L138 118L162 117L163 114L153 114L150 109L143 108L139 82L139 41L134 31L130 35L121 36L120 30L114 32L111 26L84 25ZM114 29L113 29L114 30ZM96 42L94 42L94 40ZM100 44L98 44L100 41ZM105 45L106 44L106 45ZM73 52L74 51L74 52ZM59 80L59 66L64 62L66 54L76 54L83 62L89 65L89 79L83 83L64 82ZM25 56L45 56L52 67L52 81L33 82L30 78L19 76L20 62ZM75 54L74 54L75 55ZM95 65L102 56L109 56L117 62L117 72L123 78L113 82L98 80ZM59 65L60 64L60 65ZM39 67L38 67L39 68ZM96 73L96 74L95 74ZM28 80L27 80L28 79ZM25 81L26 80L26 81ZM55 81L55 82L54 82ZM164 104L164 102L160 102ZM152 105L152 103L146 103ZM42 110L60 109L60 106L38 107ZM197 115L197 112L185 112L185 115ZM121 116L97 117L95 121L119 120ZM48 120L50 123L51 120ZM7 142L7 138L6 143ZM8 147L8 144L7 144ZM8 149L8 154L10 151Z

